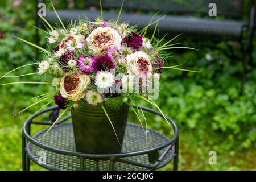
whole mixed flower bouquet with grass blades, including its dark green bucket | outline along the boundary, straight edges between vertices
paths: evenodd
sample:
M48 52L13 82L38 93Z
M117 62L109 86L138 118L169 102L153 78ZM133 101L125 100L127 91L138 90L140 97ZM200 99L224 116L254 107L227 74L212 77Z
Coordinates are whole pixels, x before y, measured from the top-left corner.
M35 63L38 64L37 74L48 75L50 80L9 84L54 86L55 92L39 96L40 100L31 106L49 100L45 107L53 99L63 109L49 130L64 113L71 111L76 149L79 152L120 152L129 108L140 123L140 115L144 116L139 106L134 109L131 104L144 100L162 113L154 102L158 97L158 81L162 70L188 71L178 68L178 65L164 67L164 60L169 56L168 49L187 47L173 47L176 44L172 44L172 40L176 37L169 41L155 37L157 24L162 18L153 21L153 16L148 26L138 31L135 26L119 23L121 10L117 20L105 21L101 11L101 17L94 22L83 18L67 27L56 13L60 20L59 28L52 27L39 15L49 30L38 28L48 35L47 49L18 38L43 52L44 59ZM156 24L154 33L146 37L147 28L153 24ZM30 65L33 64L22 67Z

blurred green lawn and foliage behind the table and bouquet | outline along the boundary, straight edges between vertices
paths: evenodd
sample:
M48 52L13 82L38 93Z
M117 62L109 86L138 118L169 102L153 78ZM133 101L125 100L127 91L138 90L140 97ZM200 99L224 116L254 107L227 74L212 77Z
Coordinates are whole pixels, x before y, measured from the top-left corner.
M34 48L13 38L15 35L35 42L35 30L29 24L34 23L35 5L25 5L23 2L15 7L12 2L6 1L0 7L0 31L6 36L5 39L0 39L0 75L20 65L32 63L32 57L35 56ZM46 35L41 36L43 38ZM42 45L45 40L42 40ZM247 82L240 95L242 56L237 42L214 43L190 39L180 39L178 42L201 49L174 51L174 57L168 60L168 64L181 64L187 60L184 68L202 70L201 73L164 71L162 89L156 100L163 112L179 125L179 169L255 170L255 49L254 64L247 66ZM12 75L35 71L35 67L27 67ZM5 78L0 83L21 80L36 81L38 77ZM22 169L22 124L40 106L35 106L18 117L12 115L30 105L32 97L48 90L42 85L0 87L0 170ZM148 126L170 135L168 126L160 117L152 118L148 121ZM212 150L217 152L216 165L208 163L208 152ZM32 165L31 169L43 168ZM170 170L172 164L162 169Z

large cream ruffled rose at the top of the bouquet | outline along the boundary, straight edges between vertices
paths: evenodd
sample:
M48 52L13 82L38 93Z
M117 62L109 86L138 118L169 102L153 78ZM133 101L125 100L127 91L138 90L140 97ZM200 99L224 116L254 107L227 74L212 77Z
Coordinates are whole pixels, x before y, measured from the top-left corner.
M90 33L86 42L92 55L98 56L109 48L119 49L122 38L119 32L111 27L98 27Z

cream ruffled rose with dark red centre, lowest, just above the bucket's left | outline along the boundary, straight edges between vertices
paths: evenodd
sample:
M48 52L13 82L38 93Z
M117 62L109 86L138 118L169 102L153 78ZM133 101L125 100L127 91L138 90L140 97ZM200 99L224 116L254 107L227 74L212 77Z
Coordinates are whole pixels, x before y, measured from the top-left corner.
M79 101L85 97L85 90L90 86L88 75L64 75L60 78L60 94L71 101Z

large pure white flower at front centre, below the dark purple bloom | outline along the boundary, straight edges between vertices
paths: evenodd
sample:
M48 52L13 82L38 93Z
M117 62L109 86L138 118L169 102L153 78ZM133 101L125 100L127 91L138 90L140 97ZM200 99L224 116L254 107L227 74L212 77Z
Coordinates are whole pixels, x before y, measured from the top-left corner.
M110 86L113 86L115 83L115 78L112 73L109 71L101 71L98 72L95 77L95 85L100 89L106 89Z

